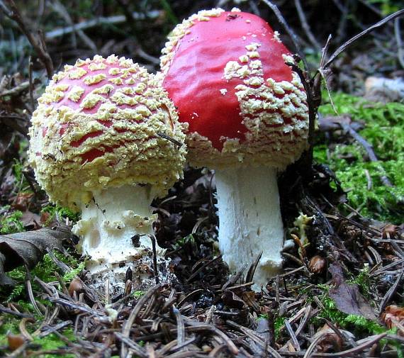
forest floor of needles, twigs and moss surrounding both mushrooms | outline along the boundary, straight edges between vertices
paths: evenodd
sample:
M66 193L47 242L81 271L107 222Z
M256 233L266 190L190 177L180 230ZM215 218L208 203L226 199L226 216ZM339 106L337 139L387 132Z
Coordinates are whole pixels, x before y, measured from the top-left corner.
M156 72L175 24L218 5L257 13L285 33L268 1L134 3L16 1L18 18L12 1L0 1L0 357L404 357L403 89L365 90L369 77L404 77L398 18L327 69L331 97L323 87L314 160L279 180L290 245L266 288L250 289L248 269L229 276L216 240L214 174L192 168L152 205L176 281L142 289L133 280L119 295L91 287L70 233L79 216L49 203L27 163L47 72L97 53ZM400 1L274 4L313 75L329 34L332 53Z

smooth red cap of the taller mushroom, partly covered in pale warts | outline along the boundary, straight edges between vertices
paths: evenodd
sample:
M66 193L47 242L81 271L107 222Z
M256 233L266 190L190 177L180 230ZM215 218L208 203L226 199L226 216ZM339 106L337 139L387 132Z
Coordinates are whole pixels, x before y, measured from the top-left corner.
M191 164L285 167L307 145L308 107L290 52L262 18L200 11L176 26L163 86L189 123Z

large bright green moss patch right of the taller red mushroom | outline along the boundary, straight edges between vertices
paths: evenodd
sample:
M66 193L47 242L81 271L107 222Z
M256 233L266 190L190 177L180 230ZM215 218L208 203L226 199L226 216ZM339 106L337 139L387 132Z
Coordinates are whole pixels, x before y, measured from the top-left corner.
M374 104L347 94L335 94L332 99L338 113L349 114L352 121L364 121L365 128L359 134L374 147L378 161L365 161L366 152L355 141L332 150L321 143L315 146L315 160L334 170L342 188L348 192L349 205L361 215L402 223L404 104ZM330 104L321 106L320 113L335 115ZM382 175L388 177L393 187L383 184Z

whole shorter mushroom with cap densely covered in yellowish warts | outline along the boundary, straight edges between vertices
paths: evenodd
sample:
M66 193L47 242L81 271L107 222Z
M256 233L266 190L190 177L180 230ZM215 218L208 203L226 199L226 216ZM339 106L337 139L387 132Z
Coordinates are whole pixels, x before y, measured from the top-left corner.
M38 103L30 163L50 201L82 211L74 233L90 271L132 261L150 272L150 204L182 177L186 154L166 91L132 60L95 56L64 66Z

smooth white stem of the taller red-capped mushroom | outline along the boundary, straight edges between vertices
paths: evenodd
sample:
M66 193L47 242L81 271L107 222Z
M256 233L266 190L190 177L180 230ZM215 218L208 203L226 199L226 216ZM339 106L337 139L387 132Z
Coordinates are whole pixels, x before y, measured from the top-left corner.
M219 248L230 272L262 257L254 274L259 290L281 269L284 225L276 169L233 167L215 170Z

